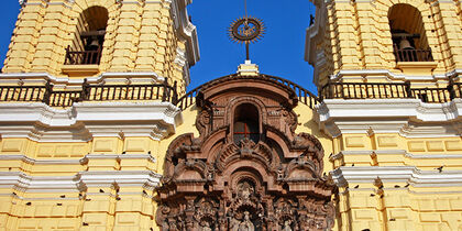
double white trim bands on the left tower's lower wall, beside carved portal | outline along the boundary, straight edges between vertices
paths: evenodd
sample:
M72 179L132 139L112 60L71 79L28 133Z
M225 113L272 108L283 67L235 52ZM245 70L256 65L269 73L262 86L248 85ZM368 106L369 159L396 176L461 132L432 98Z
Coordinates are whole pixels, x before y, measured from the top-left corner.
M0 155L0 161L22 161L31 165L85 165L89 160L147 160L150 154L100 155L88 154L80 160L35 160L25 155ZM87 187L141 186L154 189L162 175L152 170L79 172L70 176L30 176L22 172L0 172L0 188L14 188L25 193L85 191ZM36 199L36 198L35 198Z

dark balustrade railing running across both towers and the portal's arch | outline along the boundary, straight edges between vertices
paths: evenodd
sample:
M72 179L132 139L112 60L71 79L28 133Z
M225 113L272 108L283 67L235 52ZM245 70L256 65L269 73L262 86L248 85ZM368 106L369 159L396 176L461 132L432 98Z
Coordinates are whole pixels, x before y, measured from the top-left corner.
M226 76L230 77L230 76ZM222 78L226 78L222 77ZM450 80L446 88L411 88L410 82L329 82L319 91L319 97L289 80L262 75L294 90L299 102L311 109L323 99L420 99L422 102L442 103L462 98L462 82ZM220 78L221 79L221 78ZM218 79L217 79L218 80ZM162 100L176 105L182 110L196 103L199 86L178 99L176 81L169 86L153 85L89 85L81 90L53 90L50 81L45 86L0 86L1 101L44 102L52 107L69 107L79 101Z

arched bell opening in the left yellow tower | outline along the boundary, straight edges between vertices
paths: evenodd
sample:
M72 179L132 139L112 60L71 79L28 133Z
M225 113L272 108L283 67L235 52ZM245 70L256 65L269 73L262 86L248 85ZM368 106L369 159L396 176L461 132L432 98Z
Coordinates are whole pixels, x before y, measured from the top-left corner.
M73 44L66 51L65 64L99 64L108 19L108 10L102 7L88 8L80 14Z

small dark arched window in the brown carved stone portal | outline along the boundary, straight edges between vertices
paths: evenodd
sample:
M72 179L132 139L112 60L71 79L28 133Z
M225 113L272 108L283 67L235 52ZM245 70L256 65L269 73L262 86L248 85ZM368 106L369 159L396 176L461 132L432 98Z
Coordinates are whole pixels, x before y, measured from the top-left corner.
M233 139L235 144L244 139L255 143L260 140L258 110L255 106L243 103L234 111Z

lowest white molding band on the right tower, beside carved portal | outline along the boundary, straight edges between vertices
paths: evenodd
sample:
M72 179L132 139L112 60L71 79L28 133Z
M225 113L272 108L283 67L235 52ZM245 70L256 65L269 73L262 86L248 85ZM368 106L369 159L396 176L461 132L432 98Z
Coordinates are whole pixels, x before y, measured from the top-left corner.
M387 167L346 167L342 166L330 172L334 183L339 187L345 187L350 183L371 183L380 177L384 183L409 183L414 187L452 187L462 186L462 170L420 170L409 166Z

